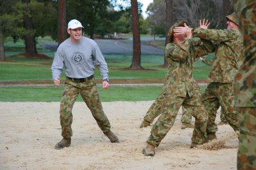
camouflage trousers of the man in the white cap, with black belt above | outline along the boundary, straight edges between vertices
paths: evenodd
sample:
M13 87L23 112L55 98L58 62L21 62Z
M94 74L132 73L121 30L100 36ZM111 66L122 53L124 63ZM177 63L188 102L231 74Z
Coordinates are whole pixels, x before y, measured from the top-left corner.
M61 135L65 138L72 136L72 108L79 93L92 112L92 116L97 121L100 129L107 132L110 129L110 123L102 109L95 79L86 82L73 82L66 79L60 103Z

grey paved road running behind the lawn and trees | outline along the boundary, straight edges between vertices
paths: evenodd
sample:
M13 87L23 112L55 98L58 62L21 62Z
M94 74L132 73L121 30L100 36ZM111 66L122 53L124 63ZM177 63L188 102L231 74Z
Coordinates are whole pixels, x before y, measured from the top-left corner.
M163 55L164 50L150 45L150 41L154 40L153 37L141 37L141 54L147 55ZM164 40L157 38L157 40ZM132 54L132 38L117 39L117 40L95 40L100 47L103 54ZM40 41L42 47L55 51L58 43L49 41Z

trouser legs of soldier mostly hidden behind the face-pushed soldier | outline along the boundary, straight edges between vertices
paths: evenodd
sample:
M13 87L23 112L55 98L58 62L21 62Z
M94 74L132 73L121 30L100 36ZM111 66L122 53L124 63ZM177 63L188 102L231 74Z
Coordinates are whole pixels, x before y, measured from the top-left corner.
M148 109L146 115L144 116L144 120L152 123L157 116L159 116L164 108L164 93L160 93L160 95L156 98L154 103ZM182 123L191 123L192 115L187 111L187 109L182 106Z

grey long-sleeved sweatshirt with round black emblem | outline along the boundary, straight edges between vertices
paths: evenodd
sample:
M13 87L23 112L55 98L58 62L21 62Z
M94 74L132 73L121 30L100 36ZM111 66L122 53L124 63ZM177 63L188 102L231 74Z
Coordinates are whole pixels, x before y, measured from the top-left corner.
M97 43L82 37L79 43L68 38L57 49L52 62L52 80L61 76L63 68L67 77L85 78L93 75L95 65L99 65L100 75L108 81L108 65Z

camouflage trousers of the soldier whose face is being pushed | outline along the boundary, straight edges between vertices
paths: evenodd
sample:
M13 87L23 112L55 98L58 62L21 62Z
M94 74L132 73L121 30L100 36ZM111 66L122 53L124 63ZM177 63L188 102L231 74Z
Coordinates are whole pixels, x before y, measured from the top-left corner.
M178 97L176 95L164 94L164 108L151 129L147 143L159 146L164 136L170 131L177 117L180 106L183 105L192 116L195 117L195 128L191 138L193 143L206 143L207 113L198 95L189 97Z

